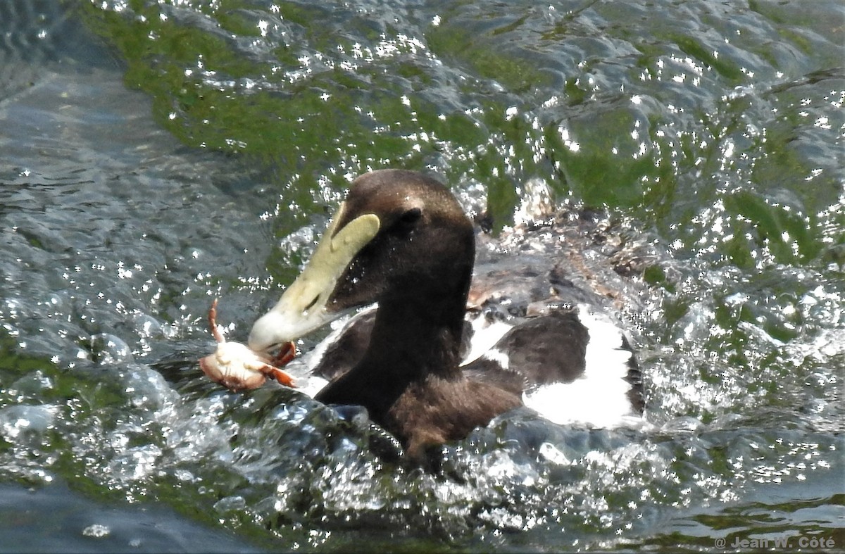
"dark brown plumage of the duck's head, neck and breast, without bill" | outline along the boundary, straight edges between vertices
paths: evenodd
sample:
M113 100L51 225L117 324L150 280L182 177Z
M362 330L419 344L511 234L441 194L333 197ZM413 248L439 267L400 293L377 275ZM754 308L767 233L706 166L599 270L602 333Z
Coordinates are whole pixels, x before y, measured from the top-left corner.
M352 184L346 206L349 217L374 213L384 223L329 303L378 301L379 310L362 360L315 398L363 405L415 458L521 405L458 367L475 238L451 193L411 171L375 171Z

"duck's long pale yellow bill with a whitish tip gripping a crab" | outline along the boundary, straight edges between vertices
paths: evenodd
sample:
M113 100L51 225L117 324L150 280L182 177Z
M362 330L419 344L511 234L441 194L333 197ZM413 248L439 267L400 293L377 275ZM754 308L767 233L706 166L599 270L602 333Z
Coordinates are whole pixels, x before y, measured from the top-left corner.
M352 258L373 240L380 226L378 216L365 214L337 229L345 207L341 204L303 273L287 287L275 307L254 323L248 340L250 349L273 350L342 315L328 309L332 292Z

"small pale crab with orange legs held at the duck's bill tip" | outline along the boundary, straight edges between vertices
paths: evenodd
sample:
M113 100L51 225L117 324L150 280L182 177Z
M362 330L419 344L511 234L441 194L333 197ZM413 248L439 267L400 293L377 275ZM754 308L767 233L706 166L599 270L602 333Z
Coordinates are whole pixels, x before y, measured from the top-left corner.
M281 371L279 367L286 365L297 356L297 347L292 343L282 346L279 354L267 357L247 345L239 342L226 342L226 338L217 329L217 299L209 310L209 324L211 334L217 341L217 350L210 356L199 360L199 367L215 383L220 383L232 392L249 388L259 388L264 384L268 375L286 387L296 387L293 377Z

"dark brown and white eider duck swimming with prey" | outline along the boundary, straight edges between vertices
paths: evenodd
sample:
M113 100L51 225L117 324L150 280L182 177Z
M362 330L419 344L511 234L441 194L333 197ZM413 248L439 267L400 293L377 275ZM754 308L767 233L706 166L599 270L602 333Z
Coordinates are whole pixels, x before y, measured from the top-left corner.
M320 349L314 371L328 384L314 398L363 406L412 459L525 404L543 415L544 404L591 408L600 421L583 422L597 426L639 416L630 346L600 313L568 304L507 321L488 309L467 323L475 240L461 205L433 178L403 170L357 177L302 274L254 323L248 346L268 352L373 305ZM586 319L610 328L614 344L595 340ZM493 339L467 346L482 330ZM596 405L597 390L624 399L621 408Z

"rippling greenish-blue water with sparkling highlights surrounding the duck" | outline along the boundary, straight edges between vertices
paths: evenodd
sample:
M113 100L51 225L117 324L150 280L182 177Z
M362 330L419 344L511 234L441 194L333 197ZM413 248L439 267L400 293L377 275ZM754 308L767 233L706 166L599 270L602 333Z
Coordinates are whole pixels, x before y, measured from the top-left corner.
M843 22L833 1L0 4L0 550L845 549ZM651 429L518 410L433 476L360 416L208 383L211 298L243 339L383 166L438 173L502 236L533 189L598 209L640 256L611 282ZM91 517L44 527L65 510Z

